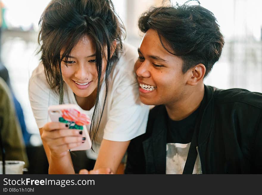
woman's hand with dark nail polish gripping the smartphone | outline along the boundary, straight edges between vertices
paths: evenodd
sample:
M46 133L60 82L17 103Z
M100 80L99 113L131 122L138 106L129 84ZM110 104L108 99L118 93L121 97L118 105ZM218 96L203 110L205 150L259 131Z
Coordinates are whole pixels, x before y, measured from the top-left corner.
M65 156L70 148L81 145L85 140L82 138L82 131L68 129L66 123L49 122L42 128L41 139L50 150L50 155L55 158Z

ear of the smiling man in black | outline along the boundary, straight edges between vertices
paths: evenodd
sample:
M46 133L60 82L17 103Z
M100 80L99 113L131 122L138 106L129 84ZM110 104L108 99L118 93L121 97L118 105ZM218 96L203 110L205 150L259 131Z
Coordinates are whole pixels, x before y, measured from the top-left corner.
M197 64L188 71L190 72L190 78L188 79L187 84L194 86L197 85L199 81L203 80L206 73L206 67L204 64Z

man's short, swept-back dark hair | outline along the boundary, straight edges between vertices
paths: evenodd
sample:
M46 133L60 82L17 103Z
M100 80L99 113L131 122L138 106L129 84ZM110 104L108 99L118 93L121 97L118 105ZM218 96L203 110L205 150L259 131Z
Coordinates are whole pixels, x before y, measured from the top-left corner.
M186 2L181 6L152 7L141 15L138 26L144 33L149 28L157 31L164 49L183 60L183 73L202 63L206 76L221 56L224 38L217 20L212 12L200 5Z

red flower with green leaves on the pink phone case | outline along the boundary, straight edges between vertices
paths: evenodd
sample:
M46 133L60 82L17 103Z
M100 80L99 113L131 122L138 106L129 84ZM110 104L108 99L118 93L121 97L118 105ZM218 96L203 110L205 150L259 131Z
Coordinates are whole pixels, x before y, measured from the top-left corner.
M82 114L76 109L63 109L61 112L62 117L59 117L59 122L67 123L69 129L83 130L83 125L91 123L90 119L85 114Z

